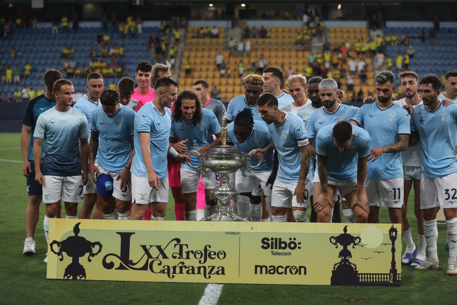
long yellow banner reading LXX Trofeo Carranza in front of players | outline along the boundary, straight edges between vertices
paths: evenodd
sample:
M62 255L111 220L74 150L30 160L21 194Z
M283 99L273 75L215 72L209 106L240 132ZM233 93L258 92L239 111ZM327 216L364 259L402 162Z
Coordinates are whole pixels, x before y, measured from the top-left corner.
M401 283L401 226L50 219L47 278Z

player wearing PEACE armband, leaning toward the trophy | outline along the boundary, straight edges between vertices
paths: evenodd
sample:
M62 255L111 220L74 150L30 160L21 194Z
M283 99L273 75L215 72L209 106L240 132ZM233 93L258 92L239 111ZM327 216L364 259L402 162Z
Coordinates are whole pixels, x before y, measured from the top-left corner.
M303 120L290 112L278 109L278 100L271 93L265 93L257 100L260 117L268 124L271 139L278 154L279 168L271 195L272 219L285 222L287 208L305 208L311 183L305 186L309 171L311 149ZM268 145L258 149L257 153L266 156L272 150ZM295 210L293 216L297 222L309 222L306 213Z

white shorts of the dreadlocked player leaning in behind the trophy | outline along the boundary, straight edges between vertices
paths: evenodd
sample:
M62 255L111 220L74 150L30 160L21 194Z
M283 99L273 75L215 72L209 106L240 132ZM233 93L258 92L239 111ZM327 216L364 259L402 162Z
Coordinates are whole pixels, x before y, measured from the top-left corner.
M253 196L271 196L271 185L266 186L266 181L271 175L271 171L246 172L247 176L243 177L241 171L235 174L235 188L239 193L251 193ZM259 187L260 185L260 187Z

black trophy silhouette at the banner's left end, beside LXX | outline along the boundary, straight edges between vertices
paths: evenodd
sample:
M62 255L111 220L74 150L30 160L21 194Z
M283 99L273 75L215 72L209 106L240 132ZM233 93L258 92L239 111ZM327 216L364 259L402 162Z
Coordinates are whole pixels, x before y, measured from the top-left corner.
M73 233L74 236L69 236L64 241L52 241L49 247L51 248L51 252L60 257L59 260L61 262L64 260L63 252L72 258L72 262L65 268L64 279L85 279L85 269L80 264L80 257L89 253L87 261L91 262L90 258L99 254L102 246L100 241L90 242L84 237L78 236L80 233L80 222L74 225ZM57 245L58 251L54 250L54 245ZM96 246L98 246L98 251L94 253L93 250Z

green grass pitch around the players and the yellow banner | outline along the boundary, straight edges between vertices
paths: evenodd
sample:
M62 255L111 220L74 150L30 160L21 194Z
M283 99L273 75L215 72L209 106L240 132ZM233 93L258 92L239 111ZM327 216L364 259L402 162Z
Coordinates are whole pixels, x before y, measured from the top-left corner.
M20 134L0 134L0 304L198 304L206 284L47 280L43 203L35 234L37 254L22 255L26 179L21 163L4 161L21 161L19 138ZM412 204L410 200L408 214L417 245ZM171 195L165 219L174 219ZM387 210L382 210L380 220L389 222ZM446 276L448 252L443 250L446 226L438 225L438 230L440 268L420 272L403 267L399 288L225 284L218 304L455 304L457 277Z

